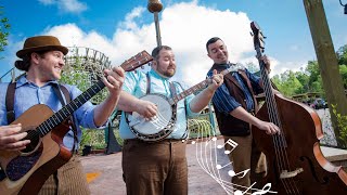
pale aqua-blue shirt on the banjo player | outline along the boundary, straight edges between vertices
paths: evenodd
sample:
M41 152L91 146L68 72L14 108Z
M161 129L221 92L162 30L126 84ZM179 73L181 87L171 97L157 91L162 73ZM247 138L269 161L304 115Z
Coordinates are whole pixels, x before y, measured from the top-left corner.
M170 84L167 78L159 76L156 72L151 69L149 72L151 77L151 93L157 93L171 98ZM175 84L177 94L181 93L183 89L180 84ZM147 78L143 72L131 72L126 74L126 80L123 84L123 90L126 92L141 98L146 94L147 89ZM187 116L196 116L200 113L193 113L190 109L189 105L194 94L188 95L184 100L181 100L177 104L177 121L174 128L174 131L167 139L182 139L187 130ZM185 105L184 105L185 102ZM125 113L121 113L120 125L119 125L119 134L121 139L134 139L136 135L130 131L129 126L125 118Z

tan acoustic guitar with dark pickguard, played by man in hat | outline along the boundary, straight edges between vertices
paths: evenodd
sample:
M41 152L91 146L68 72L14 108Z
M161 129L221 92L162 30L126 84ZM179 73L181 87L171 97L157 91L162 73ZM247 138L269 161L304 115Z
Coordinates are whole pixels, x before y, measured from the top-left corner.
M131 72L152 60L142 51L120 67ZM63 144L70 129L67 119L104 87L99 80L56 113L47 105L35 105L11 123L22 123L21 132L28 133L24 140L30 140L30 144L23 151L0 151L0 165L7 177L0 181L0 194L37 194L40 191L46 180L73 155Z

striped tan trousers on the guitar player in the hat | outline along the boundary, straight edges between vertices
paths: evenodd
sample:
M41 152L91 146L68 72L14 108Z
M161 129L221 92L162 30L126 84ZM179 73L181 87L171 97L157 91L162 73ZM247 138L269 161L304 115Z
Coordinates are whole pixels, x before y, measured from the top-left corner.
M50 176L39 195L89 195L89 186L82 165L74 155L72 159Z

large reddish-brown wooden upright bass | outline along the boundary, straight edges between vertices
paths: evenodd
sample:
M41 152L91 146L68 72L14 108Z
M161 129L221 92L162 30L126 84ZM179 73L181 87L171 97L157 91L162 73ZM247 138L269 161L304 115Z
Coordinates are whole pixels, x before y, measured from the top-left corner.
M271 183L272 190L280 195L347 194L347 173L327 161L320 150L319 140L323 132L318 114L305 104L273 93L261 61L265 37L255 22L250 23L250 28L266 98L256 116L281 129L278 134L268 135L257 127L252 128L255 143L266 155L268 167L267 176L257 182Z

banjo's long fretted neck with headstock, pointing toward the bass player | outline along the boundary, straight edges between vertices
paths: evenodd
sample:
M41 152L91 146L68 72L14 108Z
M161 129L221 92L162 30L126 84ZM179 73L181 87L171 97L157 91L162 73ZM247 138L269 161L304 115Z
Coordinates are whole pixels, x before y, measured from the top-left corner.
M220 72L219 74L221 74L222 76L229 74L230 72L237 72L237 69L244 69L244 67L240 64L235 64L235 65L231 65L229 68ZM206 88L209 83L213 82L211 78L207 78L206 80L203 80L201 82L198 82L197 84L184 90L183 92L177 94L176 96L171 98L168 100L170 105L177 104L179 101L181 101L182 99L184 99L185 96L193 94L195 91L198 91L201 89Z

